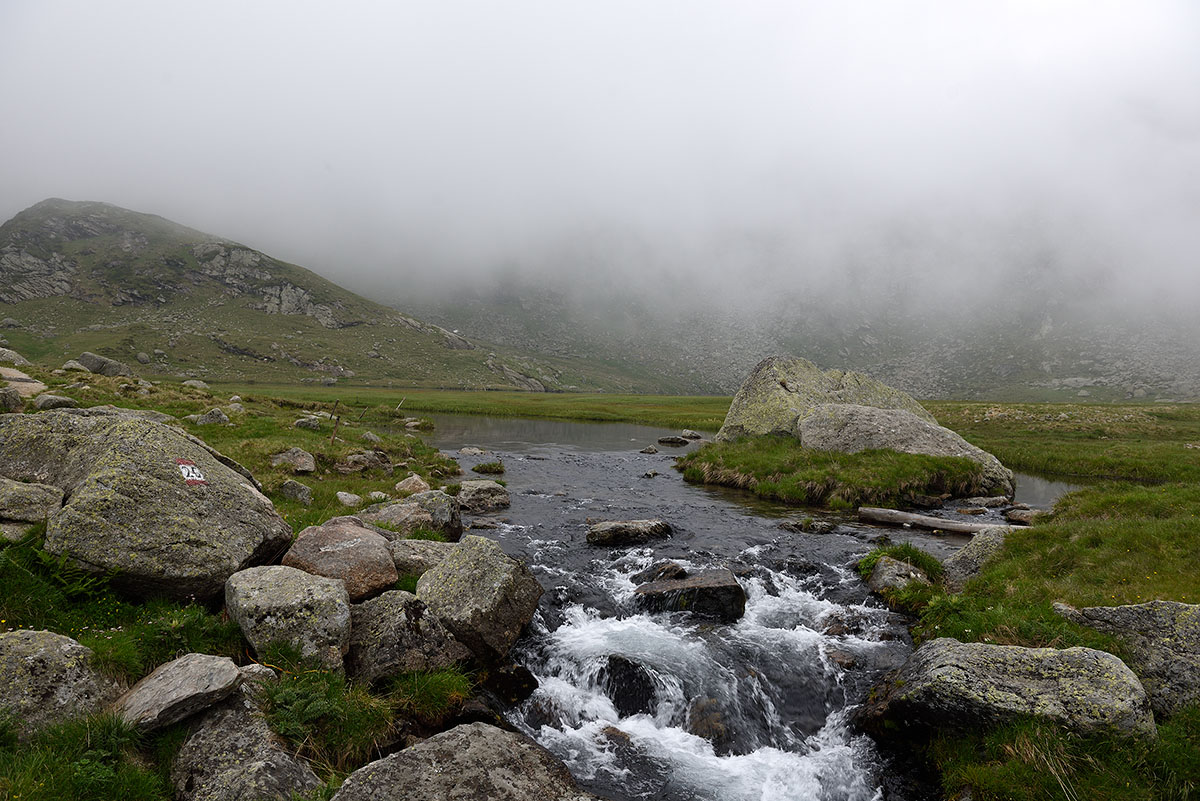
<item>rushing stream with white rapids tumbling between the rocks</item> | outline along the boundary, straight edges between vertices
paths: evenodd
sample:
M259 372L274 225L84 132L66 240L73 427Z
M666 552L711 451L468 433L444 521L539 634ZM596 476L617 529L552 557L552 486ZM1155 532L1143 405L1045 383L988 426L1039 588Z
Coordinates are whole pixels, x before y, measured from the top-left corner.
M547 590L515 649L539 688L510 721L583 787L618 801L869 801L887 782L888 799L926 797L848 724L847 710L911 648L904 621L852 570L881 529L827 517L836 528L826 534L785 530L811 513L683 482L672 464L686 448L638 452L673 432L433 420L438 447L488 451L457 457L468 474L504 460L512 506L473 532L524 559ZM640 518L674 534L634 549L584 540L592 522ZM889 534L943 556L966 541ZM722 625L640 612L631 576L664 559L732 568L745 615Z

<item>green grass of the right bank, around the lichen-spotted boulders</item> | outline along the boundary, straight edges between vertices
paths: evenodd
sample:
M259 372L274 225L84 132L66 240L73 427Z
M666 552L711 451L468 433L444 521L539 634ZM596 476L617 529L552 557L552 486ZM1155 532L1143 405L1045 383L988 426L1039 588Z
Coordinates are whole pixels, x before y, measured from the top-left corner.
M1200 409L930 404L943 423L1025 471L1109 478L1014 529L960 595L906 592L919 640L954 637L1026 646L1084 645L1122 656L1112 638L1056 615L1076 607L1200 602ZM1189 447L1190 446L1190 447ZM977 800L1200 797L1200 709L1159 721L1159 739L1080 736L1015 723L942 736L929 755L948 795Z

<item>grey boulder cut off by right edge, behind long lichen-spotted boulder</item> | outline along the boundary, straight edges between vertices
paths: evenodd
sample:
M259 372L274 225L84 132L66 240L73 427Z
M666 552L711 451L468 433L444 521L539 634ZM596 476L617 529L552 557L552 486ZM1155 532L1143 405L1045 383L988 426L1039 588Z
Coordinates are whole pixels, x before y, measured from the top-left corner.
M1126 663L1141 679L1157 713L1169 716L1200 703L1200 604L1151 601L1084 609L1055 604L1055 610L1124 646Z

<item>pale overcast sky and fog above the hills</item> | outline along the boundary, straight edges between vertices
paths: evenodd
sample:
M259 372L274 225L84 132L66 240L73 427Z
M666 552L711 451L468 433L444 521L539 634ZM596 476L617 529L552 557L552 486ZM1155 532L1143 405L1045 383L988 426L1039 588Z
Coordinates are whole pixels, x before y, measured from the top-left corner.
M106 200L352 287L1200 301L1195 0L4 0L0 108L0 217Z

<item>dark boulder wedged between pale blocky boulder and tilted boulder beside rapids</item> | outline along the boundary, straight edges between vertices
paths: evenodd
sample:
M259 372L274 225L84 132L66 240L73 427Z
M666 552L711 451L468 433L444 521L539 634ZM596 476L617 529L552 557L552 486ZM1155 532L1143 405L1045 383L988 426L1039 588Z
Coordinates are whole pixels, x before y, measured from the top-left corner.
M413 670L438 670L470 658L420 598L403 590L350 607L350 651L346 671L377 681Z

